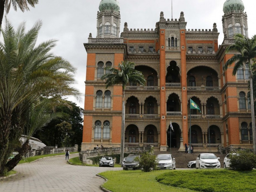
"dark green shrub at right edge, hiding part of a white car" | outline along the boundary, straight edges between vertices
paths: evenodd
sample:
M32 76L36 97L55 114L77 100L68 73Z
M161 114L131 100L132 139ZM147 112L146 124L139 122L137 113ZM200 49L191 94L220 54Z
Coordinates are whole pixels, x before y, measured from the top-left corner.
M229 167L236 171L251 171L256 168L256 155L240 150L230 156Z

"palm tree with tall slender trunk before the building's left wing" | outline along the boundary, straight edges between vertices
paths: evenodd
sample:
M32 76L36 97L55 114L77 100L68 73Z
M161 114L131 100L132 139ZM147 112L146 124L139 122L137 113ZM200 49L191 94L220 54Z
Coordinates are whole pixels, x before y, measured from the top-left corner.
M118 69L108 68L112 73L105 74L101 77L102 80L106 80L106 88L116 84L122 84L123 89L123 102L122 102L122 126L121 126L121 151L120 151L120 164L124 158L124 119L125 119L125 86L129 82L138 83L144 85L146 80L140 71L134 69L135 64L129 61L122 61L122 64L118 64Z

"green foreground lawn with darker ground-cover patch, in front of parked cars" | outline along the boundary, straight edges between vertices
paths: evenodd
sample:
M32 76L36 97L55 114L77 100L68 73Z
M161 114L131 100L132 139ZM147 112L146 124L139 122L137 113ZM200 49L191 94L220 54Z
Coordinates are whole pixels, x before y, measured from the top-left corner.
M104 187L112 192L255 192L256 170L236 172L218 170L108 171Z

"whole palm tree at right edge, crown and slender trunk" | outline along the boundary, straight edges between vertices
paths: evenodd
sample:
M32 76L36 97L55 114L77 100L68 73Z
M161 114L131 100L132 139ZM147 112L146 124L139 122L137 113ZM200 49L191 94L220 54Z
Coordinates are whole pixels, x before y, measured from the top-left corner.
M235 76L238 68L243 67L244 63L248 62L249 64L249 82L250 82L250 97L251 97L251 106L252 106L252 142L253 142L253 153L256 153L256 130L255 130L255 114L254 114L254 100L253 100L253 86L252 86L252 65L251 61L256 57L256 35L252 39L245 37L241 34L236 34L235 44L230 45L226 52L235 51L239 52L231 57L225 63L223 69L227 70L228 66L235 63L233 68L232 75Z

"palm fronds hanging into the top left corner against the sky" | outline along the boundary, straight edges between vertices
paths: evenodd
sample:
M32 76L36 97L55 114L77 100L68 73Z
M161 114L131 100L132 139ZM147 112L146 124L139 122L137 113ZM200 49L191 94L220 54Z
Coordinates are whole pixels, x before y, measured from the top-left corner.
M25 10L29 11L28 5L35 7L35 4L38 4L38 0L0 0L0 27L2 26L4 17L4 9L6 13L9 13L12 5L15 11L17 11L17 7L19 7L20 10L24 12Z

